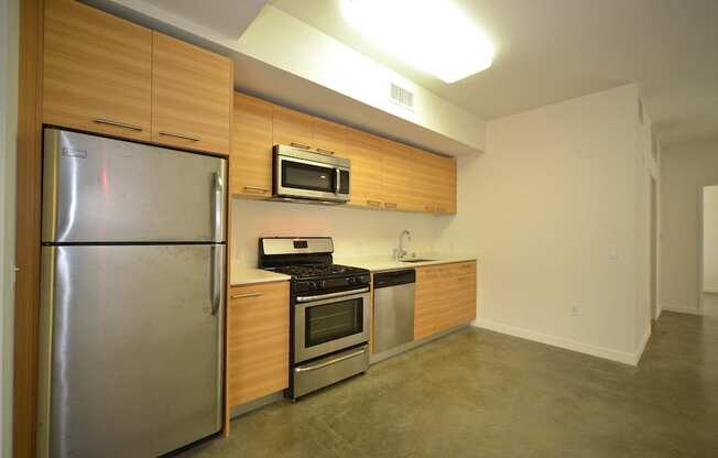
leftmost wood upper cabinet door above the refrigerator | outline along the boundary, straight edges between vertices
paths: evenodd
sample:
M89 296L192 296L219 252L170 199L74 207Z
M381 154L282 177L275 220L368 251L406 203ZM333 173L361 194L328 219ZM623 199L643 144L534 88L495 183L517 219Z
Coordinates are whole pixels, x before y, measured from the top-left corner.
M151 140L151 30L47 0L43 59L44 123Z

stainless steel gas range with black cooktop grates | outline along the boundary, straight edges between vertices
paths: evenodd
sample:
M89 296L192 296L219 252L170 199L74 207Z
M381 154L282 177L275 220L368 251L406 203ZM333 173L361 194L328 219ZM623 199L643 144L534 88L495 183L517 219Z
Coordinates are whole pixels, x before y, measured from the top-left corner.
M334 264L333 253L329 237L259 241L259 266L292 276L292 399L369 367L370 272Z

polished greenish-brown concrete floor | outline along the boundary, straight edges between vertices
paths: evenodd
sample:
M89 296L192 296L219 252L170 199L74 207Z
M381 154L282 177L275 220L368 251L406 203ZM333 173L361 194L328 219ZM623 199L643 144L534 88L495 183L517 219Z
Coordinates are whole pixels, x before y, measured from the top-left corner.
M664 313L635 368L467 329L235 419L189 457L718 457L718 318Z

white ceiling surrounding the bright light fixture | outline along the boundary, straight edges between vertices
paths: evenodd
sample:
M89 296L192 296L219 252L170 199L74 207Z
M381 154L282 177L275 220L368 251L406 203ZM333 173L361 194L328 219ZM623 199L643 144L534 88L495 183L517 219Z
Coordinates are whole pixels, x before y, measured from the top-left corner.
M488 70L447 85L365 40L341 18L339 0L271 1L485 119L637 81L662 143L718 134L717 0L454 2L497 55Z

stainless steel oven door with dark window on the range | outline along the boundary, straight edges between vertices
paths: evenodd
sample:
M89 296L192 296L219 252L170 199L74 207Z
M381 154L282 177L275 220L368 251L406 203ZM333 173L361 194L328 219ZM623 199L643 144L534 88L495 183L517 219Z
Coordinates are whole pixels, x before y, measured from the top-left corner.
M297 298L301 299L307 298ZM297 302L294 315L294 362L368 342L369 301L369 288L362 288L338 297L316 296L316 299Z

